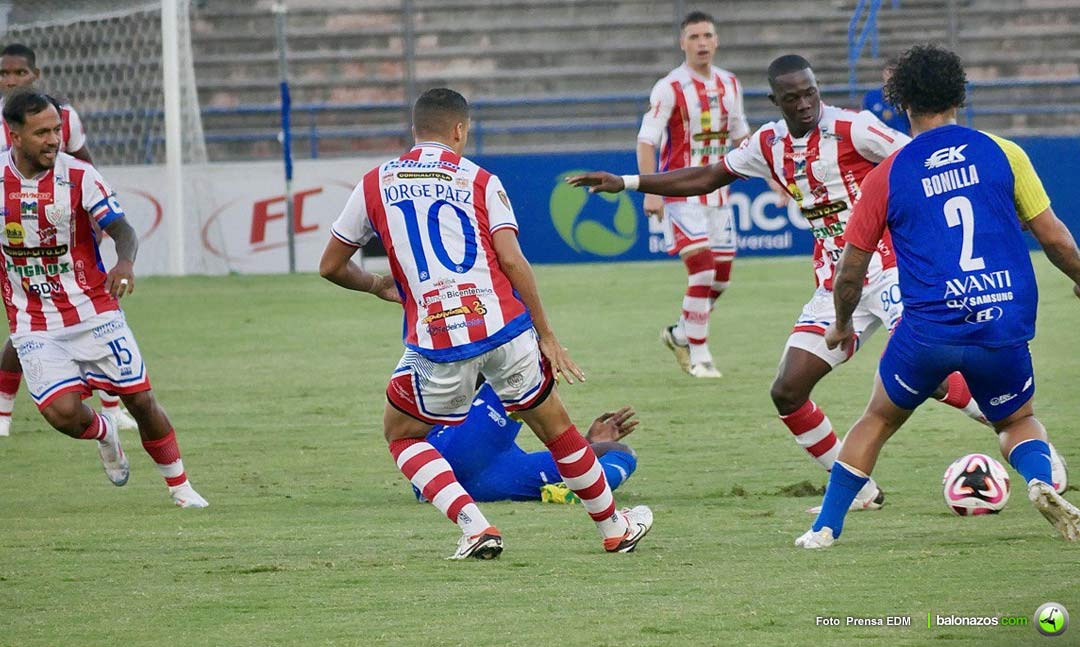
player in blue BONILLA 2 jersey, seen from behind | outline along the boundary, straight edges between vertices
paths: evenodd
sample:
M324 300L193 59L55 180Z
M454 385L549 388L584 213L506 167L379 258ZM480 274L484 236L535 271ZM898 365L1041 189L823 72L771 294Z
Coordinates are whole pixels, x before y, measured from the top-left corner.
M834 283L836 321L826 341L832 348L853 342L851 313L886 227L904 318L881 355L866 412L833 464L821 513L796 545L833 544L881 446L954 370L994 424L1001 454L1027 483L1028 499L1066 540L1080 539L1080 510L1054 491L1047 431L1032 415L1028 340L1038 289L1022 224L1075 284L1080 250L1024 151L957 125L966 82L956 54L919 45L901 57L886 86L889 102L907 112L915 139L863 181L845 233Z

